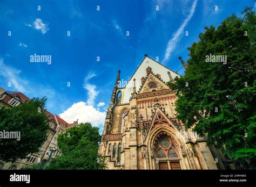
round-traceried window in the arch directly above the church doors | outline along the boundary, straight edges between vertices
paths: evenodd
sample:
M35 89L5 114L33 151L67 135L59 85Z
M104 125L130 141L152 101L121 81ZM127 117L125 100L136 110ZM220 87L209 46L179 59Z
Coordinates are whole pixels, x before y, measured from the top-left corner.
M162 133L154 141L154 151L158 158L179 157L169 134Z

